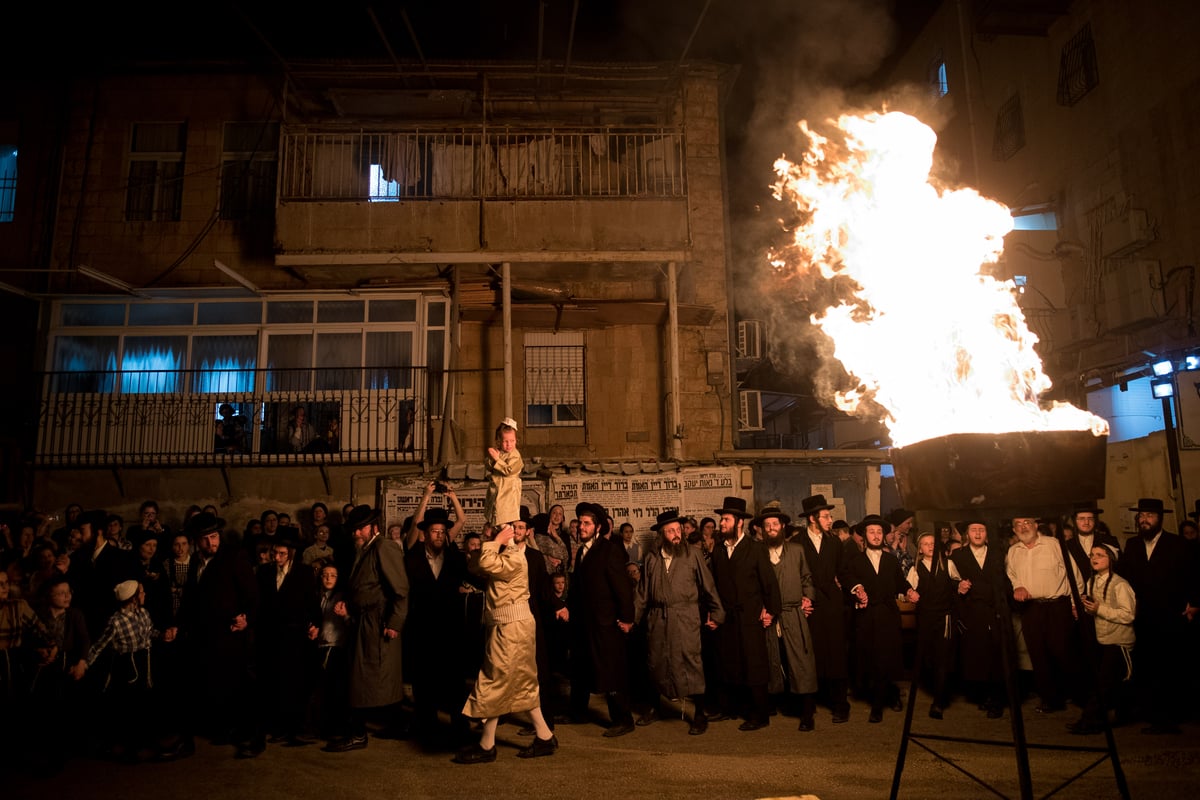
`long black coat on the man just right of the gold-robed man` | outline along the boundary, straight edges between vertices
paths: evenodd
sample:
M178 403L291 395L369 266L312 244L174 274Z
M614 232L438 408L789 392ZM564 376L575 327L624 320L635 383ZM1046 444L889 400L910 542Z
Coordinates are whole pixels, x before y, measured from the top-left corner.
M582 553L581 547L576 553ZM634 585L625 572L625 546L596 537L575 566L568 609L571 616L571 679L592 678L596 692L628 692L625 633L617 622L634 621Z

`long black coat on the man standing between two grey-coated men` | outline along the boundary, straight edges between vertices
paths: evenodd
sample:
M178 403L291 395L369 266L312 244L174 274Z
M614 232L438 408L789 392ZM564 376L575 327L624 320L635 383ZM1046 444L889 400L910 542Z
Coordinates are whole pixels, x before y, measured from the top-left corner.
M775 567L767 547L743 536L730 557L724 542L713 548L713 581L725 606L725 624L716 628L721 678L738 686L766 686L770 661L761 614L782 612Z

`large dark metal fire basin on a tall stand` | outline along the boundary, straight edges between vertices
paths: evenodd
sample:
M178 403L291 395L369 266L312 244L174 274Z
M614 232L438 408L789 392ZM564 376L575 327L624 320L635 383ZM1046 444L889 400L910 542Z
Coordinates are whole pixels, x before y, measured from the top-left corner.
M906 509L1038 512L1104 497L1108 437L953 433L892 450Z

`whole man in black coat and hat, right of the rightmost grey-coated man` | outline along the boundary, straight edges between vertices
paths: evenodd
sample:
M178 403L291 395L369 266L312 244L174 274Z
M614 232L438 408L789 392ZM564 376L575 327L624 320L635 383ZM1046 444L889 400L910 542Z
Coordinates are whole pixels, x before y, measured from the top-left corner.
M804 561L812 573L812 650L816 655L817 682L823 688L833 710L834 722L850 720L846 699L848 668L846 664L846 602L838 576L850 555L857 551L844 545L833 533L833 506L823 494L804 498L800 513L806 525L792 541L804 547Z

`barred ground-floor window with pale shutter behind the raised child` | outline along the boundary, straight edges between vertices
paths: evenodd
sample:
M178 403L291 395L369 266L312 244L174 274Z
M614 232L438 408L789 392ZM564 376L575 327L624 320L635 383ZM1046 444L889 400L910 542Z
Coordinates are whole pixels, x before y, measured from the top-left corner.
M582 332L526 333L526 425L581 427L587 419Z

